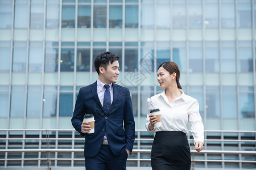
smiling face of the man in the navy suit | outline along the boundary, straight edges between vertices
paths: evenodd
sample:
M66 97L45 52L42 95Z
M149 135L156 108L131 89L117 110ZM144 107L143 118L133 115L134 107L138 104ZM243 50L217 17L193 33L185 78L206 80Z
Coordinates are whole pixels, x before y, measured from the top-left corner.
M109 62L107 69L104 69L104 73L102 74L104 78L105 84L111 84L117 82L117 77L119 75L119 62L116 60L113 63Z

